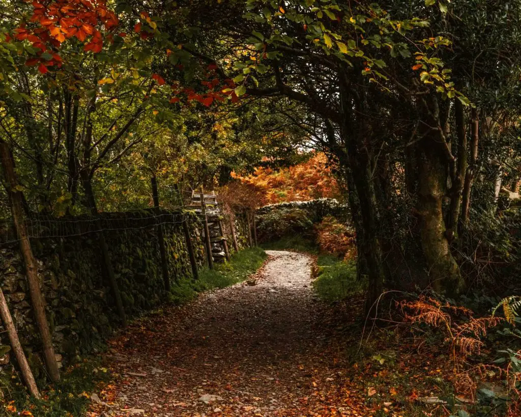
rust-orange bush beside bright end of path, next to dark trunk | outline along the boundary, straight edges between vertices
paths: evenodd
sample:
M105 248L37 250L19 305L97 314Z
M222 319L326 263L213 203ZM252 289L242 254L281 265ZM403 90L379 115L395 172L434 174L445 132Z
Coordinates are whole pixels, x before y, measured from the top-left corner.
M342 256L346 260L356 257L355 232L340 223L336 218L327 216L315 226L320 252Z

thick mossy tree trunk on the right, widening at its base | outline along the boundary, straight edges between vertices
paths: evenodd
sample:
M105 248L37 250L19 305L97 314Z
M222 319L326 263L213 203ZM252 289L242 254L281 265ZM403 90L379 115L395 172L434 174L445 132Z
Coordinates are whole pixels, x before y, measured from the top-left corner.
M445 234L442 208L446 194L448 163L438 145L439 133L430 127L427 129L430 129L430 132L419 142L418 159L421 248L433 288L437 291L457 293L463 283Z

